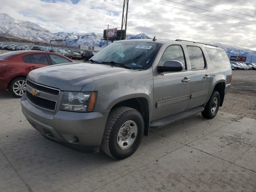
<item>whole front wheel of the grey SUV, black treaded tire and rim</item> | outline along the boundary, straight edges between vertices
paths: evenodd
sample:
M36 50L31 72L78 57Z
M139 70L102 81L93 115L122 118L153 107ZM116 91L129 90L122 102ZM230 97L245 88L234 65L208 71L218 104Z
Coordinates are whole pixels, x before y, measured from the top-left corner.
M140 112L129 107L118 107L108 116L101 149L112 158L127 158L137 150L143 133L144 120Z

